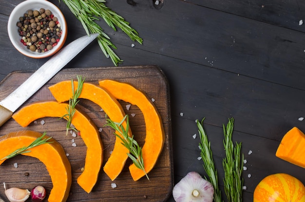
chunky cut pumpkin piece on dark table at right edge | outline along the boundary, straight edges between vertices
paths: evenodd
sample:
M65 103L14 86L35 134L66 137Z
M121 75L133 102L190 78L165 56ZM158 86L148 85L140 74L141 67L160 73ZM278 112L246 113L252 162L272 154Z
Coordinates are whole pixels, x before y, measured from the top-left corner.
M305 168L305 134L293 127L283 137L276 156L294 165Z

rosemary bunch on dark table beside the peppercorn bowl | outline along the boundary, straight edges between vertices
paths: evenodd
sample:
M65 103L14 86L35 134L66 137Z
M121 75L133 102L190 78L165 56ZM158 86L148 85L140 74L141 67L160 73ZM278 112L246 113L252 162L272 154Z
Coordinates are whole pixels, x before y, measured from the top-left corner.
M60 0L59 0L60 1ZM114 11L108 8L104 2L105 0L62 0L81 22L86 33L99 33L97 37L98 45L106 57L110 57L115 66L123 62L111 48L116 49L114 44L110 41L110 37L103 32L103 29L95 22L99 18L103 18L105 22L116 31L115 26L119 27L125 32L133 41L142 44L142 38L138 33L129 26L129 22L117 15Z

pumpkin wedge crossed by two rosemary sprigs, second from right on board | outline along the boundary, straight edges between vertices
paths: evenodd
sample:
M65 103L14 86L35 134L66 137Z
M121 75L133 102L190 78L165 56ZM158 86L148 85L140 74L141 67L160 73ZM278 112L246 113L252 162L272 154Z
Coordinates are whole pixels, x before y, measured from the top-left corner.
M77 81L74 81L74 86L77 86ZM68 101L72 96L71 81L58 82L50 86L49 90L58 102ZM95 84L84 82L79 98L88 99L97 104L114 122L121 122L125 116L125 112L118 101L110 93ZM122 125L126 128L126 121ZM120 135L118 132L117 134ZM129 130L129 135L132 136L131 130ZM129 150L121 143L122 141L116 137L113 152L103 168L112 181L122 172L128 159L127 153L129 153Z

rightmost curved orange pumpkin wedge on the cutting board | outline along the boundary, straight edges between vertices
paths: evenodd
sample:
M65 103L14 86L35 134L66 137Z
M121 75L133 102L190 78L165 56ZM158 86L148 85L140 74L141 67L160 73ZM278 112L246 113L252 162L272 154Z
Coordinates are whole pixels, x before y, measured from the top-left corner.
M136 105L142 111L146 125L142 155L145 171L149 173L157 162L165 139L163 123L158 110L144 92L131 84L105 79L100 80L99 85L113 94L116 99ZM137 168L134 164L129 166L129 170L134 181L145 176L143 170Z

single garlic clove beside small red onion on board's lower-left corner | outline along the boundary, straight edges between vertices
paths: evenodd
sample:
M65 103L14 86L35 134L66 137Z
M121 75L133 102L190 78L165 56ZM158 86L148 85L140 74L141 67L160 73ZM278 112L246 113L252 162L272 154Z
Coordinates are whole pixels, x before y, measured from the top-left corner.
M16 187L6 189L5 183L4 184L4 193L7 199L10 202L25 202L29 197L31 192L28 189L19 189Z

